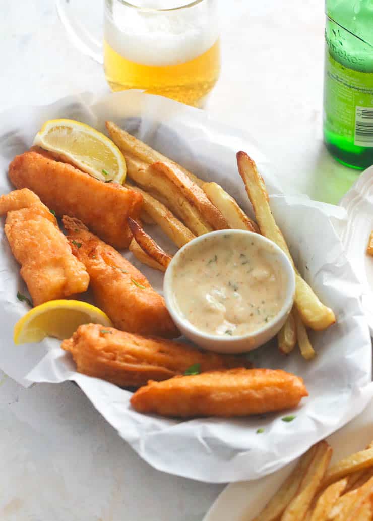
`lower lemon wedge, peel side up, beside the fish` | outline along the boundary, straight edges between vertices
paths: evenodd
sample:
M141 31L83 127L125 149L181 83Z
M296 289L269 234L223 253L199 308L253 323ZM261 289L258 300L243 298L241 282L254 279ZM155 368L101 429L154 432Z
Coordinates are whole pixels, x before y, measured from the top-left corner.
M14 343L40 342L45 337L70 338L78 326L94 322L113 327L109 317L96 306L80 300L51 300L30 309L14 327Z

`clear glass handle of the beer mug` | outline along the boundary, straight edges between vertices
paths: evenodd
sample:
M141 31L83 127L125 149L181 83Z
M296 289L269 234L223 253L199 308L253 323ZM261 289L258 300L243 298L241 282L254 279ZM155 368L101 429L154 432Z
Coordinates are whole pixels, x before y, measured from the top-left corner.
M58 16L70 40L76 48L86 56L100 64L104 63L101 41L97 40L71 12L71 4L67 0L56 0Z

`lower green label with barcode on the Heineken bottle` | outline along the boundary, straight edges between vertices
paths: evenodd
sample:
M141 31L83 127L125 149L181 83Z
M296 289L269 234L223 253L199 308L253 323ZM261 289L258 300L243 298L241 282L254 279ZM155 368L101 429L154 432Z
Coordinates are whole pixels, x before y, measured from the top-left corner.
M326 47L324 97L328 129L351 144L373 146L373 72L343 66Z

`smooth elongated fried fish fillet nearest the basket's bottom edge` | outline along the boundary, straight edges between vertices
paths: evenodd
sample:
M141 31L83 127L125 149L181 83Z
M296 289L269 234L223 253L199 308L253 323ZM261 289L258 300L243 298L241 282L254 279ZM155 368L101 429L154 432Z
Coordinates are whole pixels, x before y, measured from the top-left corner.
M131 404L163 416L247 416L295 407L308 396L302 378L280 369L230 369L148 382Z

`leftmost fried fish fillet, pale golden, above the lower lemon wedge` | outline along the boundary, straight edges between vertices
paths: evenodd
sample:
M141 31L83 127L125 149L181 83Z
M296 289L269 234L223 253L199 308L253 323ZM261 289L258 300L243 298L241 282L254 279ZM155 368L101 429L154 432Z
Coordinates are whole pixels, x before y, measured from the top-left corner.
M72 255L56 218L36 194L24 188L2 195L0 215L5 214L5 234L34 305L88 288L84 265Z

